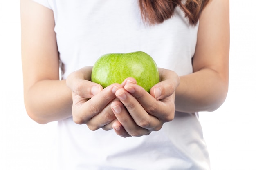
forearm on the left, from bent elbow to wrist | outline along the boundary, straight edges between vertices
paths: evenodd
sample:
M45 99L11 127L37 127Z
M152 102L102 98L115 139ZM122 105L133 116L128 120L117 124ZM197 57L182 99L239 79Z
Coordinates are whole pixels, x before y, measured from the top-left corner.
M65 80L42 80L24 92L31 119L46 124L72 116L72 93Z

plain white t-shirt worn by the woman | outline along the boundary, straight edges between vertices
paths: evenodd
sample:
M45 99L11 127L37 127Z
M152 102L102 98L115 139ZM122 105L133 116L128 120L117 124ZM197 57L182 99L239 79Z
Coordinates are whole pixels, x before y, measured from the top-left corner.
M158 67L192 73L197 26L180 8L169 20L146 26L137 0L34 0L54 11L65 79L106 53L144 51ZM58 121L60 170L209 170L198 113L175 112L173 121L148 136L122 138L90 131L68 118Z

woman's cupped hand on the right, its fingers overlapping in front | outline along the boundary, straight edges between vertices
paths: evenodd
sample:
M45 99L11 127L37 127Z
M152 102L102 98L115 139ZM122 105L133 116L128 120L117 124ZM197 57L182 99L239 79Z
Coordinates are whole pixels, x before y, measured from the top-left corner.
M175 89L180 84L178 75L159 68L160 80L147 93L136 84L133 78L127 78L115 95L120 101L114 101L111 108L117 120L112 127L122 137L148 135L158 131L165 122L171 121L175 113Z

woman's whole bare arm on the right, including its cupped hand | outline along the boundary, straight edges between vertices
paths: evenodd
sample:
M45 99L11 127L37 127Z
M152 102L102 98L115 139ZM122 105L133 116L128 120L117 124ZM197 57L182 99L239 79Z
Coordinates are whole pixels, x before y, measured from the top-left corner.
M177 86L175 76L163 74L170 72L161 69L162 82L150 90L151 96L157 101L139 91L136 84L124 86L129 93L124 89L116 92L121 103L112 103L112 110L118 120L112 127L122 137L148 135L151 131L159 130L164 122L174 117L174 95L177 111L216 110L227 95L228 66L229 1L211 0L200 17L193 73L181 76L180 85ZM161 93L155 96L157 88ZM121 97L123 94L126 94L125 99Z

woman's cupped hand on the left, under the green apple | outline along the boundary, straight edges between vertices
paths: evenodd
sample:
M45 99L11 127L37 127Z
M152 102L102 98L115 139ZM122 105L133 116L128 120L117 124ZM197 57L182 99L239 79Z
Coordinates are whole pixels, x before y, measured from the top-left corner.
M72 91L73 120L76 124L87 124L90 130L110 130L116 121L110 104L119 100L115 92L122 86L112 84L103 89L100 84L90 81L91 73L92 66L87 66L67 77L67 86Z

